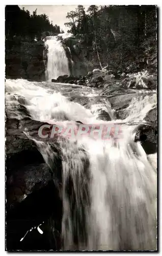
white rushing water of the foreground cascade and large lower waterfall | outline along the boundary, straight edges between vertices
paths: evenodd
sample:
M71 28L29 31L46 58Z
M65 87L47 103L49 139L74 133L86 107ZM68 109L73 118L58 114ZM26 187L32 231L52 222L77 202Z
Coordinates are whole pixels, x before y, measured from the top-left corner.
M144 122L146 113L156 103L156 95L134 98L125 110L126 118L115 120L109 101L103 100L100 108L98 102L88 104L88 108L77 103L77 97L95 99L96 96L97 99L97 93L97 90L65 84L6 81L10 117L22 118L16 112L17 105L22 104L35 120L105 123L97 114L97 109L103 106L113 119L108 123L121 123L123 138L116 142L91 137L75 142L58 139L63 184L62 249L154 250L156 166L148 161L140 142L134 142L136 125L125 123ZM76 102L70 100L71 96L75 96ZM36 143L52 169L56 152L43 140Z

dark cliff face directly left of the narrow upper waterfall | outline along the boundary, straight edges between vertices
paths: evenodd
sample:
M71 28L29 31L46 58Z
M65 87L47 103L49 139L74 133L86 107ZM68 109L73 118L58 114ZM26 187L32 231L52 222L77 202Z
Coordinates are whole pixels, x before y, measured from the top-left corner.
M6 77L45 80L43 41L6 40Z

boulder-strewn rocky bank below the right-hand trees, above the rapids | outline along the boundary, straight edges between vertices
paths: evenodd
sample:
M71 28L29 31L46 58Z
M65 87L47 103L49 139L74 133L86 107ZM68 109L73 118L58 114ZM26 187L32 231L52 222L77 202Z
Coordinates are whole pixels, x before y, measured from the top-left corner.
M118 84L120 88L124 89L153 90L156 89L157 86L157 76L156 74L150 74L148 71L133 74L121 74L115 70L107 70L105 67L102 70L94 69L93 71L88 72L85 76L59 76L57 79L52 79L51 82L79 84L101 89Z

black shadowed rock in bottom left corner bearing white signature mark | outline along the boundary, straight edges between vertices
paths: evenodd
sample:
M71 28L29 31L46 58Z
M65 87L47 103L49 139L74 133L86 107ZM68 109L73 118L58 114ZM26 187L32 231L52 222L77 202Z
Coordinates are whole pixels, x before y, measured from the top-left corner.
M7 250L48 251L61 249L60 233L63 209L58 189L52 181L40 189L38 187L39 184L37 183L28 197L20 203L15 203L14 207L7 209ZM20 193L17 189L16 195L18 194ZM43 234L40 234L37 229L40 224ZM30 232L28 232L29 230ZM21 238L24 239L20 242Z

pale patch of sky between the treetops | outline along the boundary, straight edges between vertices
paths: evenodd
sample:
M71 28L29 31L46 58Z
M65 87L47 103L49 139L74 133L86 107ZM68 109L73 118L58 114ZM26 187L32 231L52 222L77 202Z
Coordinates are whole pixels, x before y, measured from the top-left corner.
M77 5L19 5L22 9L29 10L32 14L33 11L37 9L37 14L45 13L50 22L52 21L53 25L57 24L65 32L68 30L68 27L65 27L64 23L69 20L66 18L67 12L74 11ZM87 11L89 5L84 5L85 10Z

